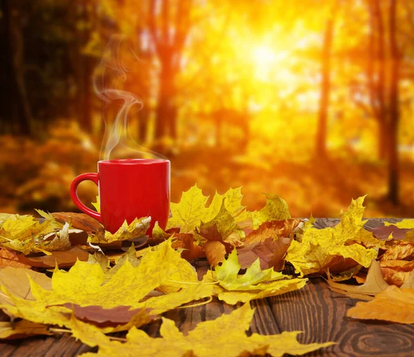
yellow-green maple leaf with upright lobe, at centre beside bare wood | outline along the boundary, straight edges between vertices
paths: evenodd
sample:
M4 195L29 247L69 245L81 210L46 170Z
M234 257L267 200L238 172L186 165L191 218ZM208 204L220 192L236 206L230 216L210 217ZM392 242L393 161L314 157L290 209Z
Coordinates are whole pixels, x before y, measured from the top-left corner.
M223 264L215 267L215 271L208 271L204 276L205 282L219 282L215 285L215 294L219 300L230 305L237 302L246 302L268 296L280 295L304 287L308 279L290 279L272 268L262 270L257 259L244 275L239 275L240 264L237 260L237 251L224 260Z

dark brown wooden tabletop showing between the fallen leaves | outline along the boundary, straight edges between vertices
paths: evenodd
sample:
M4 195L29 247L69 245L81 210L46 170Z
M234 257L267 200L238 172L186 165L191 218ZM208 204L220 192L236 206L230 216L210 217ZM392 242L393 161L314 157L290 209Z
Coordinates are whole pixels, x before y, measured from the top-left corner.
M316 226L323 228L338 220L319 219ZM382 224L382 219L368 220L367 229ZM396 222L397 220L388 220ZM208 269L205 261L197 262L202 276ZM304 331L302 343L335 341L337 345L320 349L306 356L414 356L414 325L358 321L346 317L346 311L357 300L346 298L328 289L322 278L313 278L303 289L262 300L251 305L256 308L251 331L258 334L279 334L282 331ZM240 305L239 305L240 306ZM208 305L177 309L166 313L175 320L181 331L193 329L197 323L213 320L222 313L235 309L218 300ZM159 336L160 322L143 327L150 336ZM225 331L218 331L225 333ZM225 347L224 347L225 348ZM86 351L97 351L68 335L61 337L34 337L0 343L0 356L77 356ZM138 356L139 354L137 354Z

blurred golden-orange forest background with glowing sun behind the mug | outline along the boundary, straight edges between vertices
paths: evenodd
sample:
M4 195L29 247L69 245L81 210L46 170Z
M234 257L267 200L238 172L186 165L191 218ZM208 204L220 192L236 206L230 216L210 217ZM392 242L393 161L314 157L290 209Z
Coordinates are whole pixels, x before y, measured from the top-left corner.
M1 0L0 28L0 211L75 211L128 114L175 202L414 216L414 0Z

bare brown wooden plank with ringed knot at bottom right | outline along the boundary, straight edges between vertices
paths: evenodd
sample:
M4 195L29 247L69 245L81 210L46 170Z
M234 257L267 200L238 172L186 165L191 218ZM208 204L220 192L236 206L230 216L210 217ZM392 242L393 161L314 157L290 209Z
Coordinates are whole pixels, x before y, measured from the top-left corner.
M413 356L414 325L347 318L358 300L334 293L321 278L268 301L282 331L304 331L300 342L337 342L306 356Z

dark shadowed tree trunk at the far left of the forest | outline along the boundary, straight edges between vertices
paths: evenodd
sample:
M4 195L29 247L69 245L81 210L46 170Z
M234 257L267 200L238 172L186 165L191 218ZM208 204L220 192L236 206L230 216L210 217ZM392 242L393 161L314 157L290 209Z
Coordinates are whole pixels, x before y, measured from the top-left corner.
M8 76L10 88L10 119L14 123L15 133L32 134L32 113L26 93L23 73L23 35L16 9L12 8L14 1L2 0L4 21L6 22L6 48L8 51ZM15 15L17 14L17 16Z

